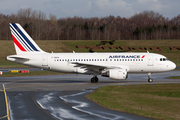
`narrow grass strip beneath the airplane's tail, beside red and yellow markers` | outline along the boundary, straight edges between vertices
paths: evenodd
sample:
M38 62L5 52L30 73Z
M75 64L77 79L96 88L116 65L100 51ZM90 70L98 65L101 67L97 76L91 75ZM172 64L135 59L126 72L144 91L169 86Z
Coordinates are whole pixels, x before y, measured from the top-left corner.
M54 75L54 74L62 74L62 73L52 72L52 71L30 71L29 73L9 73L9 72L3 72L3 74L0 75L0 77Z

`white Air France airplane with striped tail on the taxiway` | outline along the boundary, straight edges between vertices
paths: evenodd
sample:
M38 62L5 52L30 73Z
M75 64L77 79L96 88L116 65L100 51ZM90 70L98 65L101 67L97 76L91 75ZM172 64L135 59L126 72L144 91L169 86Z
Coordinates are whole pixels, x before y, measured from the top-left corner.
M146 73L148 82L153 82L152 73L170 71L176 64L165 56L146 52L132 53L47 53L34 42L19 23L10 23L10 30L16 55L6 59L44 70L93 75L92 83L98 82L98 75L114 80L126 80L129 73Z

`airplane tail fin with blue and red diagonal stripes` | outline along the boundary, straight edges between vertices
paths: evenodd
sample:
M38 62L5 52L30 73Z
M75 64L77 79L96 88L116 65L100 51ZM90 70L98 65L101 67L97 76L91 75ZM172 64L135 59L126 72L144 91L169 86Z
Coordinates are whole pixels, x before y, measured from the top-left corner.
M18 23L10 23L16 54L44 52Z

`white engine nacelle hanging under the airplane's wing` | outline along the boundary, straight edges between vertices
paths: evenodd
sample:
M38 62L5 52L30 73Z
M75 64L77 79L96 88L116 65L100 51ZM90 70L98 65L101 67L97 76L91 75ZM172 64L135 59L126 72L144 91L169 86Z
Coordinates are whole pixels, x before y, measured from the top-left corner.
M107 71L102 71L101 75L104 77L109 77L110 79L116 79L116 80L127 79L127 71L125 69L110 69Z

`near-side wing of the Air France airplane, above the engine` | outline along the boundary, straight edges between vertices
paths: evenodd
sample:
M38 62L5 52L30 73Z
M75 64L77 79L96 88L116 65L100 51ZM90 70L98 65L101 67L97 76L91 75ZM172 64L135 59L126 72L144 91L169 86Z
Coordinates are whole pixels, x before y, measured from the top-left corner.
M71 64L75 64L74 67L81 67L87 69L89 71L99 72L104 69L126 69L129 71L129 67L125 65L114 66L114 65L98 65L98 64L89 64L89 63L79 63L79 62L71 62Z

